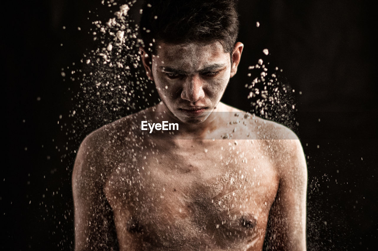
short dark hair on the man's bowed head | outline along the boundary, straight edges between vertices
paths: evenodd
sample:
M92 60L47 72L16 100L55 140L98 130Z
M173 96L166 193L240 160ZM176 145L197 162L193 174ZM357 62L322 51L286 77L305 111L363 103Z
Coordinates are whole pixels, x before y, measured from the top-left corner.
M140 21L144 46L156 53L156 42L218 41L226 53L232 53L239 31L236 2L146 0Z

